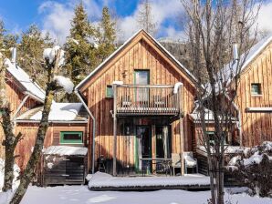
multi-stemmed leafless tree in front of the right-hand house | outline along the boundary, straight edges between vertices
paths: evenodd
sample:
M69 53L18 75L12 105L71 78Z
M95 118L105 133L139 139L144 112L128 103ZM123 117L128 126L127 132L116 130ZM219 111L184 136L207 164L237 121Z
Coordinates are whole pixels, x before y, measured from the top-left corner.
M197 103L203 132L201 141L210 172L210 202L223 204L225 139L239 117L234 101L241 67L255 43L256 1L182 0L182 3L189 18L190 56L198 81ZM212 112L209 119L214 122L213 146L207 134L207 108Z

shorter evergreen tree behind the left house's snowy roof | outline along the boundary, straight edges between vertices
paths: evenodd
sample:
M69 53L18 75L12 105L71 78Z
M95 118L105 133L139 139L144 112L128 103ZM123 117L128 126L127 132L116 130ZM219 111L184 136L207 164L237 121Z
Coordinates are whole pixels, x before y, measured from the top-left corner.
M41 65L43 60L43 50L52 46L53 42L48 34L43 36L36 25L28 28L23 33L21 43L18 46L17 63L42 87L45 87L45 70ZM33 68L35 67L35 68Z

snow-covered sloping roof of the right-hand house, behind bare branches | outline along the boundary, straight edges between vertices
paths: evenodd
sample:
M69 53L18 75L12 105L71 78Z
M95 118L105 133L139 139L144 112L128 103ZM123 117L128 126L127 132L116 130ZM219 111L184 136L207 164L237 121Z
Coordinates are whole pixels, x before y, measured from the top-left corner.
M222 70L219 71L217 74L219 78L223 77L223 80L218 80L216 90L219 92L221 84L220 83L227 83L229 84L232 79L238 75L239 73L242 73L246 66L248 66L255 58L260 54L260 52L271 43L272 36L267 36L264 39L260 40L258 43L256 43L255 46L252 46L250 50L248 51L247 55L246 53L242 54L240 56L240 62L244 62L244 65L239 70L237 67L237 61L232 61L229 64L225 65ZM246 55L246 56L245 56ZM245 59L246 57L246 59ZM207 87L210 87L207 85Z

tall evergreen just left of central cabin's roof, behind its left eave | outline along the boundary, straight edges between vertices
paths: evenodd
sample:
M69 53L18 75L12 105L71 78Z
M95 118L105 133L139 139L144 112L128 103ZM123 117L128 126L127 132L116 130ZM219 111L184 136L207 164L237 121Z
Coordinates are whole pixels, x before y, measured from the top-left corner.
M70 35L65 45L67 75L77 85L96 66L95 48L89 42L95 35L82 2L75 8Z

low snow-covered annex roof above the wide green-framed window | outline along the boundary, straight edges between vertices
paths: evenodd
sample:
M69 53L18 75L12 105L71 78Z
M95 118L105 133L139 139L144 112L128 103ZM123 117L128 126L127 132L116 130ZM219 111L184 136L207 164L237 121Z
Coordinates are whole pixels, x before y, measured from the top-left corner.
M37 122L42 117L43 107L36 107L26 111L16 122ZM85 108L81 103L56 103L53 102L49 113L50 122L73 121L87 122L88 117Z

